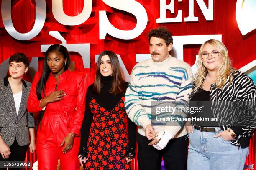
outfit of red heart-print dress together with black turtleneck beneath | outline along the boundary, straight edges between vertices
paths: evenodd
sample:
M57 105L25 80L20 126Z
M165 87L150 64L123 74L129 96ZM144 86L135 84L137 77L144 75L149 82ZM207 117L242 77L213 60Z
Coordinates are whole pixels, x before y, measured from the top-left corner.
M125 156L134 151L131 148L135 148L136 125L125 112L125 91L109 93L112 80L113 76L102 77L100 95L93 93L93 85L87 89L79 151L88 158L86 170L131 170Z

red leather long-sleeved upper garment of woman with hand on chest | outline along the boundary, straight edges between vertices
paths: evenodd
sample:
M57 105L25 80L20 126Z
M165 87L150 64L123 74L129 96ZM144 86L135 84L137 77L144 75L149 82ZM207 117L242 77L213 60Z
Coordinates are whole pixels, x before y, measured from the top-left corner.
M41 73L36 72L31 85L27 102L27 109L31 113L38 113L43 109L40 107L40 100L36 96L36 85L40 77ZM53 74L50 73L46 82L45 96L54 92L56 85L57 81ZM59 75L59 83L56 90L63 90L67 95L62 100L46 105L45 113L51 112L64 115L67 120L67 127L70 127L69 132L79 135L84 117L86 89L86 77L84 73L66 70Z

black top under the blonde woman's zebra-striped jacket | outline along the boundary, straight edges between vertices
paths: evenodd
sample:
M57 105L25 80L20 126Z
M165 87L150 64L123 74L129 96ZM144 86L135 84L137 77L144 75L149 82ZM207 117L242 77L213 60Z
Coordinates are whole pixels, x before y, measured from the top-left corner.
M210 106L210 91L206 91L203 88L199 89L190 99L190 107L201 107L202 112L195 112L194 114L191 114L192 118L214 118L211 106ZM218 127L218 122L216 121L202 121L202 120L194 120L193 123L195 123L198 126L204 126L204 127Z

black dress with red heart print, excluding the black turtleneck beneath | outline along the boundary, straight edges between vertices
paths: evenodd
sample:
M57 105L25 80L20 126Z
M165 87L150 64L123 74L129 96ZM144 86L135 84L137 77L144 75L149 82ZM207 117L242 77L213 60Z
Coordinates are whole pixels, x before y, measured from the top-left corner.
M87 146L86 168L91 169L131 169L125 164L125 152L128 144L124 97L110 110L101 107L92 98L90 110L94 114Z

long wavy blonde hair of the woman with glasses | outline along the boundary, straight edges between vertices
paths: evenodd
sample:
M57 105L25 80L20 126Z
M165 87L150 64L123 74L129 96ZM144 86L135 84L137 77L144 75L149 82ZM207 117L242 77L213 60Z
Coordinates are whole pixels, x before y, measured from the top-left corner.
M220 52L223 58L223 62L221 63L220 68L218 69L218 72L216 75L217 87L222 89L223 85L228 80L228 77L229 77L228 85L230 85L232 82L231 72L233 68L231 67L231 61L228 57L227 48L222 42L215 39L210 39L205 41L205 43L200 47L200 50L198 52L199 58L197 60L197 72L194 76L195 88L193 88L193 92L196 92L199 88L202 88L203 82L205 81L205 77L208 73L207 68L203 65L202 58L201 58L202 50L206 44L210 44L213 47L215 47ZM219 57L221 56L219 55Z

